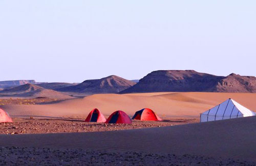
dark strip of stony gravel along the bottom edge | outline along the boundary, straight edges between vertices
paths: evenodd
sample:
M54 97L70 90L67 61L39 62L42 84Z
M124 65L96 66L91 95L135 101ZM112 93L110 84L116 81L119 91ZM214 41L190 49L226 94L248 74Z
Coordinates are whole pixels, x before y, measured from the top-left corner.
M0 148L1 165L256 165L256 163L195 155L100 152L82 149Z

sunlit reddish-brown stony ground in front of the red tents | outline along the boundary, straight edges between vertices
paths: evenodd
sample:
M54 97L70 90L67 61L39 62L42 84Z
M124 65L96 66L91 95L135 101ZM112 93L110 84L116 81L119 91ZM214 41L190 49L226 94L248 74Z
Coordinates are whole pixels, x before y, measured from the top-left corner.
M132 124L105 124L75 119L14 119L13 123L0 123L0 134L95 132L146 127L172 126L198 122L197 119L172 119L166 121L138 121Z

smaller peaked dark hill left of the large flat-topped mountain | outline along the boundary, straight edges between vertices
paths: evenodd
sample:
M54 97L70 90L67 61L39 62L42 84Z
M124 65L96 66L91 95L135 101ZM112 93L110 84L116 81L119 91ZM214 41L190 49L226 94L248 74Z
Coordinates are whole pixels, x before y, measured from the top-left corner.
M101 79L85 80L76 86L64 87L56 90L60 92L76 92L88 94L118 93L124 89L132 87L135 84L136 83L131 80L127 80L116 75L111 75Z

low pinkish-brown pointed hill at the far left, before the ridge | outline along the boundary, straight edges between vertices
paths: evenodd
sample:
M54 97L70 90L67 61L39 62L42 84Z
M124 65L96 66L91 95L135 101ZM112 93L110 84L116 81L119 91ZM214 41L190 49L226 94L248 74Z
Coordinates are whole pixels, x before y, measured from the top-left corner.
M73 98L69 95L62 94L53 90L45 89L32 84L25 84L10 89L0 91L0 97L48 97L56 99L69 99Z

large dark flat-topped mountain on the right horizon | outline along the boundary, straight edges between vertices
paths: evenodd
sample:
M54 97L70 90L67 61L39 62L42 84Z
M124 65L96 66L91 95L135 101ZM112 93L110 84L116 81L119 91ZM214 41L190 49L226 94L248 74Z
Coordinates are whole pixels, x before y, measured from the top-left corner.
M256 77L230 74L216 76L195 70L158 70L147 74L120 93L238 92L256 93Z

